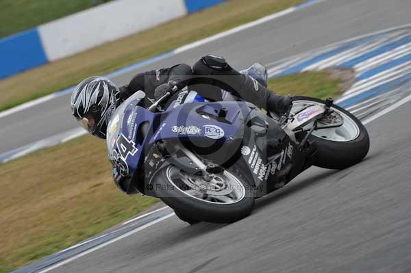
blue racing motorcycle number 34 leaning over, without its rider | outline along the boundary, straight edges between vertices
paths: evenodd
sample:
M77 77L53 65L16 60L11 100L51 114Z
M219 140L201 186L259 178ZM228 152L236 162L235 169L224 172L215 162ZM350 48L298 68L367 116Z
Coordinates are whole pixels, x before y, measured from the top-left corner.
M112 115L107 145L116 185L160 198L190 223L248 216L256 198L310 168L343 169L369 151L360 120L332 99L294 98L284 116L245 101L205 101L185 90L145 109L145 93Z

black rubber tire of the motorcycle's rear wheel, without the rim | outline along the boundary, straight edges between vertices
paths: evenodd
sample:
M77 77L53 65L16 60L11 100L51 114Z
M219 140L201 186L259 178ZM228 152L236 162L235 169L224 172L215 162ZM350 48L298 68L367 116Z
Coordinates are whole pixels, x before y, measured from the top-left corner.
M294 98L294 101L301 100L325 103L325 101L321 99L314 99L308 96L296 96ZM333 105L332 107L338 109L340 112L343 112L356 123L359 129L357 138L348 142L334 142L311 135L309 139L316 142L316 145L318 146L314 166L340 170L358 164L358 162L362 161L362 159L364 159L366 154L369 152L370 140L366 128L362 125L362 122L356 118L356 116L338 105Z

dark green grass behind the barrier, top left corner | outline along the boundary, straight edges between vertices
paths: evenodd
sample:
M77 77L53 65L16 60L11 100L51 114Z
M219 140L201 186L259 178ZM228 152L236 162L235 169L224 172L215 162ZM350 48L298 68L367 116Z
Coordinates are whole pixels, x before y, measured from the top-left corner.
M1 0L0 38L111 0Z

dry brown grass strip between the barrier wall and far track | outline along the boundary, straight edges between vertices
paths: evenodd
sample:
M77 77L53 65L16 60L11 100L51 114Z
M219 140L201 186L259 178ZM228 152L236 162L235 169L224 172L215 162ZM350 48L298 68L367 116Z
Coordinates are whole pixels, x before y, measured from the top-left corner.
M3 79L0 81L0 111L73 86L91 75L103 75L304 1L230 0L140 34Z

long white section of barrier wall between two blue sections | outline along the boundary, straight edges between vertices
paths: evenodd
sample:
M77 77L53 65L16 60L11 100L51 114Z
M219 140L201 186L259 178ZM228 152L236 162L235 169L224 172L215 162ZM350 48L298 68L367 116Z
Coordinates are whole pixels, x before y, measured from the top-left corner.
M47 60L74 55L187 14L182 0L117 0L38 27Z

